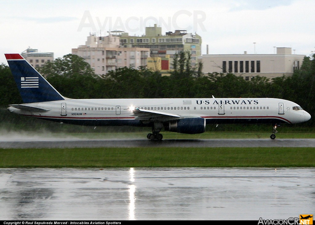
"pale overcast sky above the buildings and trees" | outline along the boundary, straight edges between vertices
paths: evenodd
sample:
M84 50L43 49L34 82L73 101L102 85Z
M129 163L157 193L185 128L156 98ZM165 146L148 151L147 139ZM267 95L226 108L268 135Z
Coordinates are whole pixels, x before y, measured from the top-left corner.
M29 46L54 52L54 58L85 44L90 32L123 30L143 35L157 23L162 33L187 30L202 37L202 53L274 53L290 47L296 54L315 51L314 0L205 1L1 1L0 63L4 53ZM293 53L293 51L292 51Z

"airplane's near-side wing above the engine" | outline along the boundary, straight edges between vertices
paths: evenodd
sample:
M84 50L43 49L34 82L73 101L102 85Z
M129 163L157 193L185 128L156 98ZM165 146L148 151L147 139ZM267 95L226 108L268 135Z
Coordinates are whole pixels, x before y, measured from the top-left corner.
M153 111L153 110L142 110L139 108L135 108L132 110L133 115L135 116L136 120L141 121L170 121L175 120L181 117L181 115L172 114L172 113L166 113L166 112L160 112L160 111Z

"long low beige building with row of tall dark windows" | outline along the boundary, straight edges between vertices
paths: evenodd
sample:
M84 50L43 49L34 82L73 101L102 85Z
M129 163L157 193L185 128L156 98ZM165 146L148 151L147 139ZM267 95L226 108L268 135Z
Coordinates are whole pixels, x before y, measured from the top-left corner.
M277 48L276 54L208 54L198 57L203 73L234 73L245 80L255 76L269 79L292 76L302 65L305 55L292 54L291 48Z

